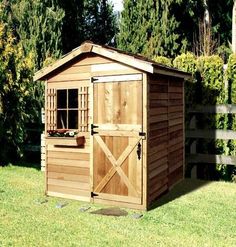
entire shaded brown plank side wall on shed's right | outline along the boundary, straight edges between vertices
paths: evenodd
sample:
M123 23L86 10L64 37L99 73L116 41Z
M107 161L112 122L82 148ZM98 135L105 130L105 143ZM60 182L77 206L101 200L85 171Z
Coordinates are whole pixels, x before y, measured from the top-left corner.
M183 81L148 77L148 204L183 178Z

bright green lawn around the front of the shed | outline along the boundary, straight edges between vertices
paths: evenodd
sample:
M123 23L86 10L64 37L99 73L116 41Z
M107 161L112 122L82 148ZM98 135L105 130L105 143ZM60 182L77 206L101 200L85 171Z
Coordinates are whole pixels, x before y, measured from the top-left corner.
M0 168L0 246L236 246L236 184L185 180L156 207L128 216L90 214L102 208L66 200L61 209L48 198L43 173L32 168Z

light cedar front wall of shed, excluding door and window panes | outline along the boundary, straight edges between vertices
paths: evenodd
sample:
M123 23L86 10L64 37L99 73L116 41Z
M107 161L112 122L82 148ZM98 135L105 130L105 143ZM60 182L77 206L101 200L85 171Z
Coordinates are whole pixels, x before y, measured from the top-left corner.
M131 67L116 63L102 56L89 54L54 72L48 79L46 131L56 129L56 90L78 88L79 131L84 132L86 136L85 146L82 148L76 147L76 141L69 140L69 138L68 140L63 138L49 138L47 140L46 193L48 195L84 201L90 200L92 191L90 173L92 169L90 169L91 149L88 126L92 123L91 78L137 73L139 71ZM130 88L130 90L133 90L133 88ZM141 97L141 95L137 95L137 97ZM137 104L138 102L135 105ZM105 116L100 110L102 109L98 109L100 116ZM140 116L142 116L141 112L139 113Z

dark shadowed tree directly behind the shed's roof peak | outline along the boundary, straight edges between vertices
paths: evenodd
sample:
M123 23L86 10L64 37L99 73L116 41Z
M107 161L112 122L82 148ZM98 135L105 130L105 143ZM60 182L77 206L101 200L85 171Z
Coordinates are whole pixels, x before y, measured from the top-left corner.
M117 30L113 6L108 0L58 0L65 11L63 52L69 52L85 40L111 44Z

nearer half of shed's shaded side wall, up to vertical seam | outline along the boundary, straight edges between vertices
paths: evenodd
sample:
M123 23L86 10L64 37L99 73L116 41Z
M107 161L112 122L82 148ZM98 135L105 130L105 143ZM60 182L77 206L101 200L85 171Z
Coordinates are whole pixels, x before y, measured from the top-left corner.
M148 109L148 204L168 190L168 77L150 76Z

